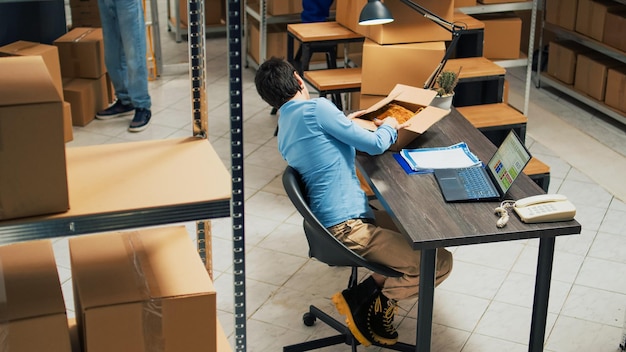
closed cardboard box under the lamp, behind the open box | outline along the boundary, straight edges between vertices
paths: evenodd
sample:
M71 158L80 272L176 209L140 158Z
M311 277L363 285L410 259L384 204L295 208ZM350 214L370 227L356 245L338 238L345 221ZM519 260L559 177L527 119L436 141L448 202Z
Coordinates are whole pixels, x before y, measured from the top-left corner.
M386 96L397 83L423 87L445 50L444 42L380 45L366 39L361 93Z

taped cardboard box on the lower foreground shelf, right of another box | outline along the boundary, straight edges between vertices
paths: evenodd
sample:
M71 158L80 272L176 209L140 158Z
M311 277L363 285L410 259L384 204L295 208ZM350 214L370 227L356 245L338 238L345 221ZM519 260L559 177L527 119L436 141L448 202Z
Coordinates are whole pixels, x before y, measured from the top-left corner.
M213 352L216 292L184 226L69 239L89 352Z

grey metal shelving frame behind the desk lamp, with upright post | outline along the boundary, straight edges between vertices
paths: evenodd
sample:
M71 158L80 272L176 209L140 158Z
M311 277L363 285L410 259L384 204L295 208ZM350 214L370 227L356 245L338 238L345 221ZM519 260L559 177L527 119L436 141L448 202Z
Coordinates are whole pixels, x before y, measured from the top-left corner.
M477 5L469 7L460 7L458 10L466 15L475 15L481 13L495 13L495 12L507 12L507 11L523 11L531 10L530 16L530 33L528 40L528 56L526 58L520 58L515 60L499 60L494 61L498 65L507 67L521 67L526 66L526 85L524 89L524 107L522 113L528 115L528 106L530 103L530 86L532 81L532 61L533 52L535 50L535 26L537 24L537 8L539 0L525 1L525 2L512 2L503 4L491 4L491 5Z

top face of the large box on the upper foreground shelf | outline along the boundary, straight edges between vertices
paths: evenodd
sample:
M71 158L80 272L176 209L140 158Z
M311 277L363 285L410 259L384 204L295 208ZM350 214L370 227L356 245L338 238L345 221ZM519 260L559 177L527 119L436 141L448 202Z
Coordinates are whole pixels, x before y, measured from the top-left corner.
M40 56L2 58L0 82L0 106L62 100Z

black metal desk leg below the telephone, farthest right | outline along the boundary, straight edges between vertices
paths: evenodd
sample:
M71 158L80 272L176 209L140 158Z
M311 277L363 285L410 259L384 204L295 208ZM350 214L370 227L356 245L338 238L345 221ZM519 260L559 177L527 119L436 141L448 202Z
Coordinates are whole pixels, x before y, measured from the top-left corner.
M530 342L528 344L529 352L543 351L553 259L554 237L541 238L539 240L539 256L537 258L535 300L533 303L533 318L530 326Z

